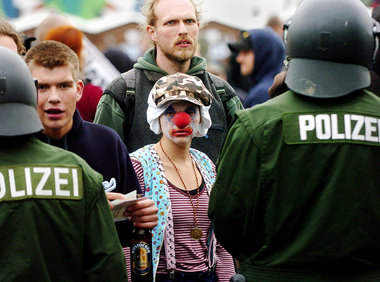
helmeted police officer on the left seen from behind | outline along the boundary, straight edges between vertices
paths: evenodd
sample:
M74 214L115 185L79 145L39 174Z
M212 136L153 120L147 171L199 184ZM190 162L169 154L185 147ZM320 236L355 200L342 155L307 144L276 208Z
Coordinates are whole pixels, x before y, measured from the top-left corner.
M0 58L0 280L127 281L102 176L34 137L34 80L15 52Z

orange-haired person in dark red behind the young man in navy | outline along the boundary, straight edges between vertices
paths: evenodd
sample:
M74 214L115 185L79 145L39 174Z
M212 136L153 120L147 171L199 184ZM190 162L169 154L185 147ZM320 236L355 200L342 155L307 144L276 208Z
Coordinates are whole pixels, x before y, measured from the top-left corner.
M86 54L84 52L83 34L73 26L59 26L49 30L45 40L55 40L69 46L79 59L80 77L84 78ZM95 117L96 106L102 97L103 90L90 81L83 79L84 88L81 99L77 102L77 109L85 121L92 122Z

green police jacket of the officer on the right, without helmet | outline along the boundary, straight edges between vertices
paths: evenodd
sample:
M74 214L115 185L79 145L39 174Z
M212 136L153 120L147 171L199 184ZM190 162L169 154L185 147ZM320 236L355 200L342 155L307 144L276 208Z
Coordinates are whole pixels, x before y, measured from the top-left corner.
M288 91L237 114L209 216L248 281L379 281L379 109Z

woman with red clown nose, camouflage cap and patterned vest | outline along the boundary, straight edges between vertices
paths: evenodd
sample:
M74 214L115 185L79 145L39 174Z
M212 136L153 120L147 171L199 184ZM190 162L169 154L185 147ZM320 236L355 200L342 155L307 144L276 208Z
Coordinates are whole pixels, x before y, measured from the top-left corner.
M162 136L131 160L145 196L159 210L152 231L155 281L229 281L235 273L207 217L215 166L190 148L211 126L211 99L199 78L182 73L162 77L149 94L147 121Z

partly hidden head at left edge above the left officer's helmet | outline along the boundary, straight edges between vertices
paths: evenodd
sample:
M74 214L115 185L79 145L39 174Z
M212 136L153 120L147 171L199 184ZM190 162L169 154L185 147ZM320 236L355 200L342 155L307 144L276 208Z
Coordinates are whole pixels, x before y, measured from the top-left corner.
M4 46L13 52L24 55L25 47L23 36L6 20L0 19L0 46Z

